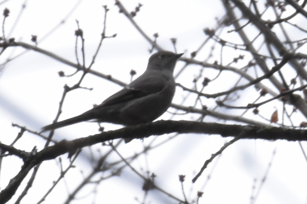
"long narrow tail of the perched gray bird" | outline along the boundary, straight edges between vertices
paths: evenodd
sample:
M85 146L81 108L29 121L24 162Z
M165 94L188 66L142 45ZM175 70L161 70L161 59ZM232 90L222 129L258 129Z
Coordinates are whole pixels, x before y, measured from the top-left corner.
M50 125L46 125L46 126L41 128L42 129L41 132L45 132L45 131L48 131L48 130L54 130L54 129L57 129L57 128L60 128L60 127L72 125L72 124L75 124L75 123L80 123L82 121L86 121L86 120L90 120L90 119L93 119L91 115L81 114L81 115L78 115L78 116L73 117L73 118L69 118L69 119L62 120L62 121L59 121L59 122L56 122L56 123L52 123Z

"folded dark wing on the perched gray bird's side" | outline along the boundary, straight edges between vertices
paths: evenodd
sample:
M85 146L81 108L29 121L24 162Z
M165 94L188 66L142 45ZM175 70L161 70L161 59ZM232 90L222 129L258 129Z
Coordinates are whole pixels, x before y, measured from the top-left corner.
M136 98L144 97L149 94L158 93L165 87L165 83L163 83L161 77L155 78L157 78L157 80L152 80L152 76L140 76L133 82L131 82L128 87L123 88L119 92L113 94L112 96L104 100L99 106L118 104Z

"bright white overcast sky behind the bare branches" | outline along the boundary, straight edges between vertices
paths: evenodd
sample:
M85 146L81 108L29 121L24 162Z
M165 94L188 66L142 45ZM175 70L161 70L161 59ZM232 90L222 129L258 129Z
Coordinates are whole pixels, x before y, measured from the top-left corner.
M169 39L177 38L177 51L178 53L185 52L185 57L190 57L190 53L205 40L203 28L213 28L216 25L215 17L221 17L224 13L220 1L214 1L214 4L212 2L122 1L128 11L134 10L138 3L142 3L144 6L141 7L141 11L134 17L134 20L148 36L152 37L157 32L159 34L157 43L166 50L173 51ZM23 3L24 1L15 0L0 5L1 11L6 7L10 9L10 16L6 19L5 24L6 35L17 19ZM14 37L16 41L21 40L33 44L30 41L31 35L37 35L38 41L40 41L68 15L74 5L74 1L28 0L21 19L17 22L10 37ZM137 71L137 76L146 69L150 57L148 49L151 46L140 36L126 17L118 13L114 1L80 1L70 17L65 19L66 22L56 28L42 42L39 42L38 47L76 62L74 32L77 29L75 21L77 19L84 32L86 64L89 65L103 29L104 10L102 5L107 5L110 9L107 14L106 35L112 36L117 33L117 36L103 41L93 69L103 74L111 74L113 77L129 83L131 69ZM235 37L235 34L229 34L229 36ZM234 38L234 40L236 39ZM22 51L23 49L7 49L1 55L0 63L4 62L9 55L14 56ZM204 50L199 60L205 59L208 52L209 50ZM237 55L232 53L234 55L229 58L224 56L223 60L231 62L233 56L237 57L239 53L239 51ZM218 60L219 55L215 59ZM183 62L178 62L175 73L182 66ZM6 65L0 76L0 108L2 113L0 116L0 141L2 143L10 144L19 131L19 129L11 127L12 122L36 131L40 130L42 126L52 123L64 84L73 85L80 77L80 74L70 78L59 77L57 72L60 70L63 70L65 74L72 74L75 71L69 66L33 51L28 51ZM193 77L198 74L198 70L198 67L190 67L188 71L192 74L181 75L178 80L187 87L192 87ZM206 70L206 72L208 76L211 76L212 73L212 76L216 74L214 71L211 73L210 70ZM231 82L231 80L231 77L227 78L227 82ZM235 79L233 80L235 81ZM100 104L105 98L121 89L118 85L90 74L85 77L81 85L94 89L92 91L79 89L68 93L60 119L79 115L90 109L92 104ZM220 86L223 85L220 84ZM208 93L210 91L211 93L216 92L214 87L209 87L207 90ZM181 101L184 94L181 89L177 89L174 101ZM246 97L247 94L245 92L244 96ZM247 101L246 104L249 102L251 101ZM179 103L177 102L177 104ZM214 100L207 100L206 105L209 108L213 107ZM269 118L274 111L272 107L274 107L274 102L270 104L270 109L261 111L267 112L266 116ZM229 110L225 110L225 112L227 111ZM229 112L231 113L231 111ZM161 119L169 119L169 117L170 114L166 113ZM188 120L191 119L190 117L192 116L184 115L175 119ZM258 120L258 118L256 119ZM206 121L214 121L214 119L208 118ZM105 127L106 130L111 130L119 126L106 125ZM79 123L56 130L55 138L75 139L95 134L98 132L97 129L98 126L95 123ZM145 139L144 142L150 139ZM258 180L256 183L256 189L258 189L260 181L272 161L273 151L276 149L271 168L256 203L306 203L307 163L297 142L238 141L228 147L221 157L216 158L197 182L191 185L195 172L200 170L204 161L229 140L230 138L225 139L217 135L181 135L167 145L152 150L147 158L141 157L132 164L137 170L143 168L154 172L157 175L157 184L181 199L183 197L178 175L184 174L186 175L185 191L190 199L195 198L197 191L204 191L200 203L250 203L254 179ZM34 145L37 145L40 150L43 144L43 141L38 140L37 137L26 134L15 147L30 151ZM133 155L134 152L142 150L142 147L142 141L134 140L122 146L119 151L123 155ZM95 145L93 147L93 149L98 148L101 146ZM88 155L88 149L85 148L84 152L84 155ZM62 157L64 163L68 162L65 161L66 156ZM79 160L77 164L82 166L86 175L91 167L86 167L86 165L90 165L90 162L87 161L89 158L86 156L83 158L85 161ZM118 160L115 155L114 160ZM12 161L16 161L16 159L11 157L7 162L17 163ZM26 196L21 203L36 203L45 194L52 185L52 181L59 175L56 161L48 161L41 166L38 174L40 177L37 177L41 179L34 182L29 196ZM147 166L145 161L148 161ZM5 164L3 163L2 166L5 167ZM47 197L45 203L62 203L66 199L67 191L71 192L74 185L79 184L82 179L79 166L77 165L77 168L71 170L72 173L67 175L66 184L62 182L60 187ZM10 171L2 169L1 189L6 187L9 179L19 171L19 166L10 167ZM211 179L202 188L211 171ZM3 176L4 174L5 176ZM65 185L68 185L68 190ZM191 187L192 191L190 192ZM91 190L90 187L84 188L78 197L87 195ZM18 192L17 195L19 195ZM158 198L155 197L157 195L159 195ZM36 196L37 198L35 198ZM96 199L97 203L138 203L134 198L142 200L142 196L142 180L126 168L121 177L113 177L99 186L99 194ZM88 197L84 199L86 200ZM73 203L84 203L84 199L77 199ZM152 203L177 203L155 190L149 192L147 199ZM92 198L89 200L91 201Z

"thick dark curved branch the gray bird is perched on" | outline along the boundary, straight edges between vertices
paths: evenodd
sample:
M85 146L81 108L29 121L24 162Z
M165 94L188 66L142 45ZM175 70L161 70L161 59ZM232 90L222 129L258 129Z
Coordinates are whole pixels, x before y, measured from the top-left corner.
M169 133L219 134L222 137L237 136L241 134L240 137L243 139L283 139L288 141L307 141L307 130L273 127L270 125L242 126L184 120L160 120L153 123L124 127L119 130L103 132L71 141L63 140L53 146L42 149L37 154L33 155L32 158L29 158L27 162L25 162L20 172L13 179L11 179L9 185L0 192L0 202L5 203L10 200L30 169L42 161L54 159L64 153L73 152L79 148L108 140L118 138L147 138L151 135L162 135ZM242 133L244 134L242 135ZM6 151L8 150L9 149L6 149Z

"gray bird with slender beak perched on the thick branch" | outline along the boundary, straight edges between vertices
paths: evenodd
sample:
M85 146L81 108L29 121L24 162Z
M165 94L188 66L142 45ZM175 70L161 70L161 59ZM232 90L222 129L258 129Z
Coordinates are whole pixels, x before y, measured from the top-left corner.
M181 55L183 53L169 51L151 55L146 71L127 87L81 115L43 127L42 132L87 120L128 126L157 119L172 102L175 93L173 71Z

